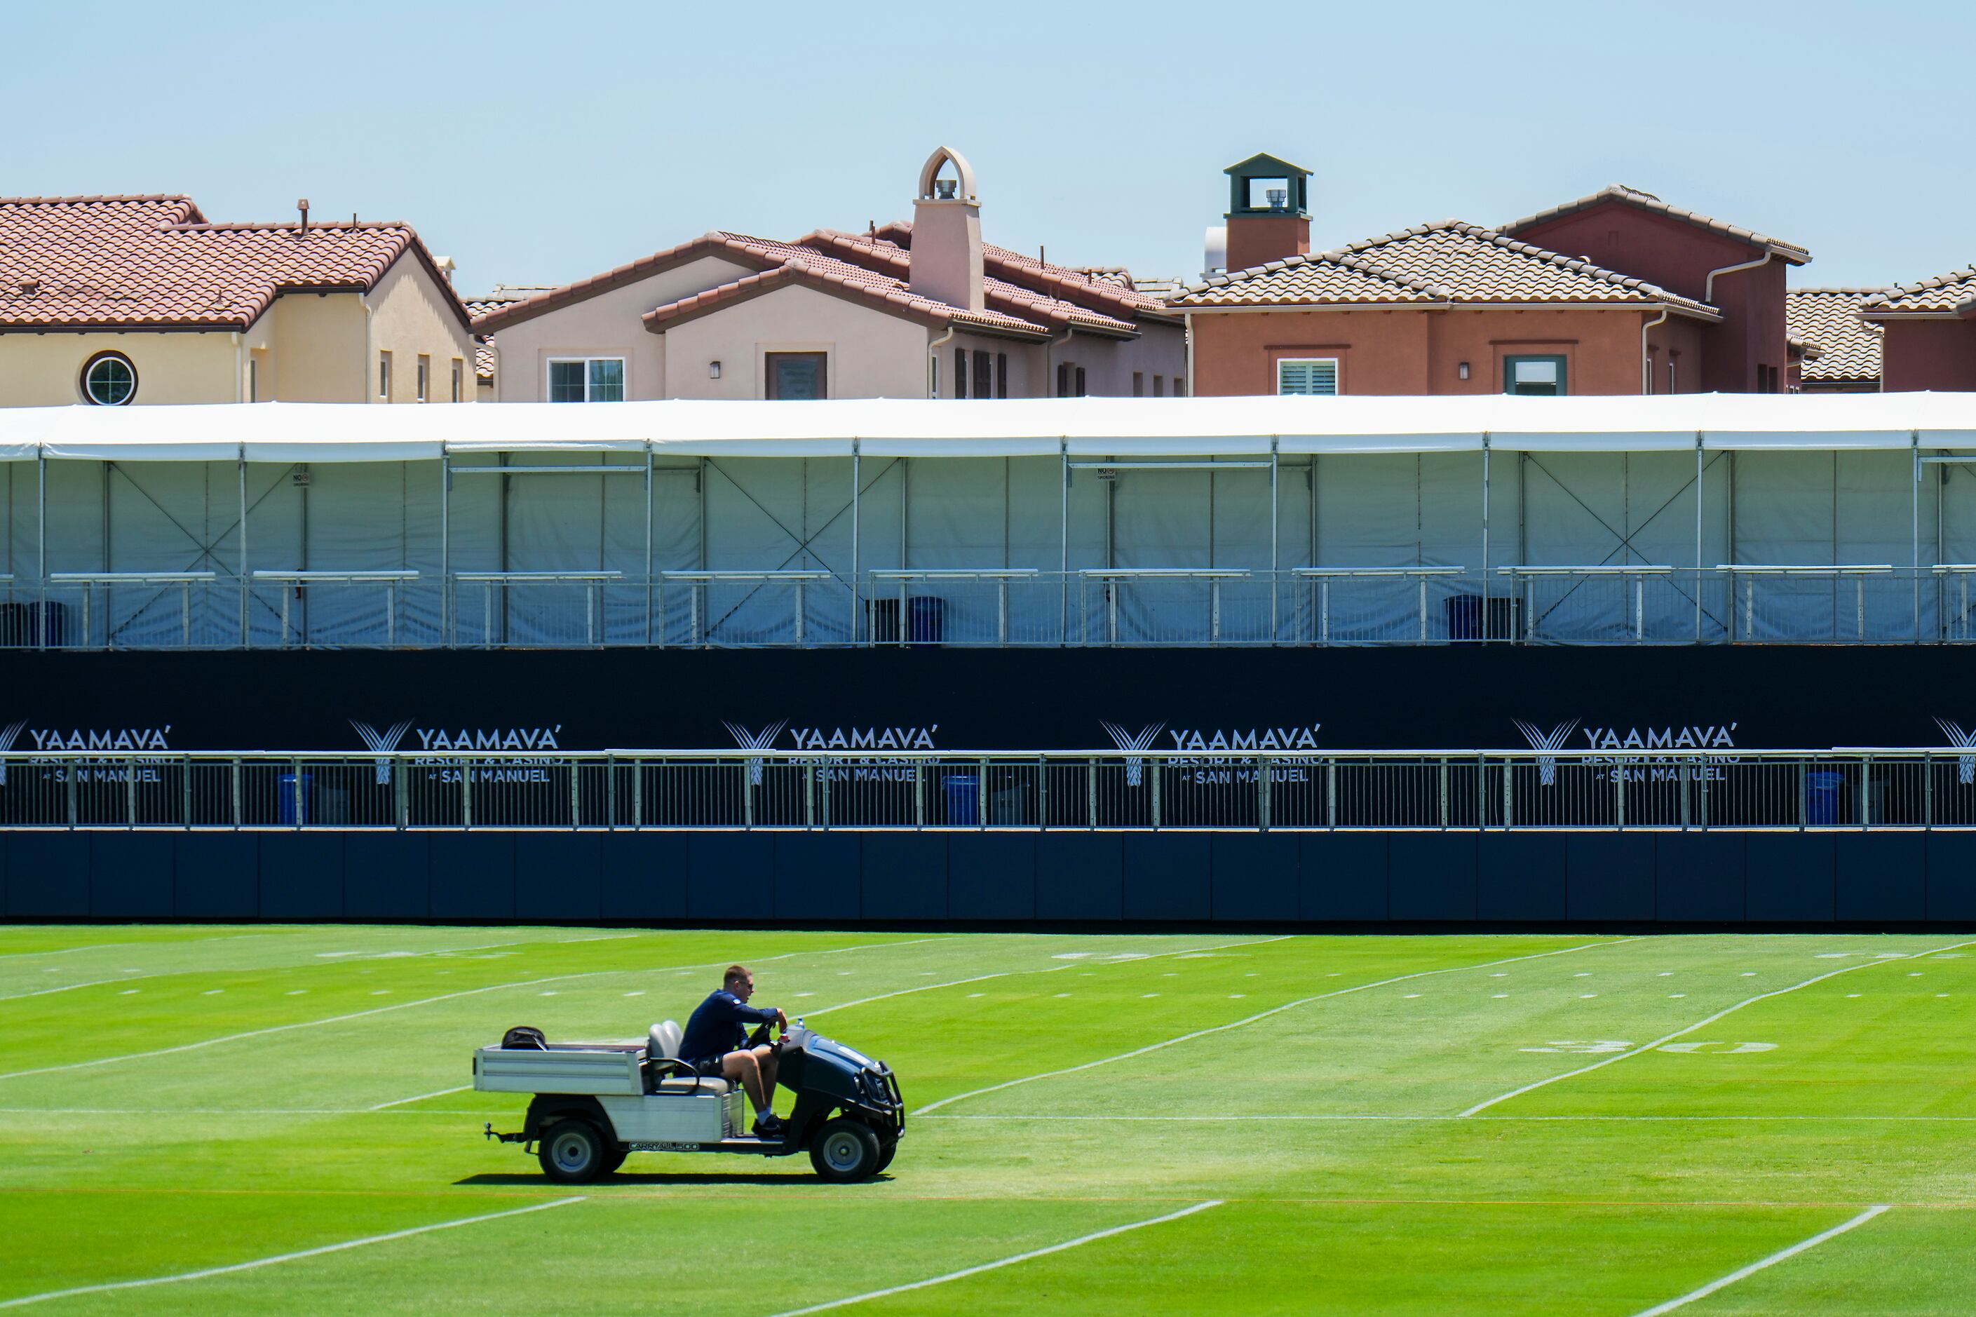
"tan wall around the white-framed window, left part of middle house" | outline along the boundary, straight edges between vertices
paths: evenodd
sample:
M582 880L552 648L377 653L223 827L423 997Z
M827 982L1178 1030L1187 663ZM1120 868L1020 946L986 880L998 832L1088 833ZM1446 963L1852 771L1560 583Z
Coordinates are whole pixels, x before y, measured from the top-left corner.
M666 397L666 338L644 330L644 312L753 273L735 261L701 257L496 330L494 395L545 401L551 358L622 356L626 397Z

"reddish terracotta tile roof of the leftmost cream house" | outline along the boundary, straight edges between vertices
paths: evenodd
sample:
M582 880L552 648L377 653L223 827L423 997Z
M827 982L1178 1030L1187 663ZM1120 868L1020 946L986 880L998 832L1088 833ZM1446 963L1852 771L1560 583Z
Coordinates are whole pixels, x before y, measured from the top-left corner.
M405 223L304 233L207 223L186 196L0 198L0 328L247 328L287 291L370 291L407 251L451 291Z

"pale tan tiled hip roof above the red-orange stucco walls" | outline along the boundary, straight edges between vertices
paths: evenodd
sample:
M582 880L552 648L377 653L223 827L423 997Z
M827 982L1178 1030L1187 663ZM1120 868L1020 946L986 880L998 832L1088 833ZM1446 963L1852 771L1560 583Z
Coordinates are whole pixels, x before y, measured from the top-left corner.
M1423 223L1340 251L1215 275L1174 299L1180 308L1298 305L1614 305L1672 307L1719 318L1713 307L1644 279L1504 237L1460 220Z

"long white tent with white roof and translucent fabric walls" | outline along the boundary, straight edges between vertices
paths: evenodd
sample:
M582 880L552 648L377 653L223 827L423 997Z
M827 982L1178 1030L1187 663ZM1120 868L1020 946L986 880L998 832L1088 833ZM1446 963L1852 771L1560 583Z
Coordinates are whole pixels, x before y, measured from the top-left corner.
M1217 589L1251 591L1245 625L1267 641L1302 625L1278 579L1296 568L1462 568L1488 591L1502 568L1660 566L1697 573L1695 585L1660 589L1654 617L1636 623L1660 631L1693 613L1699 629L1729 613L1727 593L1699 597L1729 589L1699 577L1719 564L1976 560L1976 483L1954 475L1964 453L1976 461L1976 395L1962 394L0 411L16 591L55 575L259 579L253 603L237 583L233 595L202 585L198 607L219 621L237 607L251 615L241 627L265 633L275 603L302 593L271 573L417 573L393 599L314 589L312 625L328 613L340 635L381 637L403 609L407 633L431 633L480 597L492 641L498 589L500 637L514 643L579 639L530 601L567 597L571 583L522 573L585 579L589 639L664 639L713 613L733 637L767 637L788 609L784 585L717 603L715 585L688 589L666 571L836 581L802 605L812 641L852 639L858 599L891 589L873 571L984 570L1247 571L1249 583ZM1269 577L1267 613L1255 573ZM850 605L844 583L856 583ZM1089 587L1111 599L1105 579ZM1352 589L1369 625L1415 607L1411 579ZM1061 627L1069 591L1063 577L1029 581L1016 607ZM1830 581L1806 591L1838 625ZM1160 639L1162 609L1182 605L1148 581L1128 593L1112 625ZM1905 607L1875 631L1935 625L1935 605L1911 593L1909 605L1875 593L1875 609ZM113 609L126 643L184 627L194 607L156 585L136 597ZM947 605L990 607L958 587Z

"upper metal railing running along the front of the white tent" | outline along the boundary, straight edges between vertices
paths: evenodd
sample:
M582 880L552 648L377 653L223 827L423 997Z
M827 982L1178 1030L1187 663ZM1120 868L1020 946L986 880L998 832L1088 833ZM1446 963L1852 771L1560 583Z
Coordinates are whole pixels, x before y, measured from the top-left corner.
M1976 643L1976 564L65 571L0 649Z

